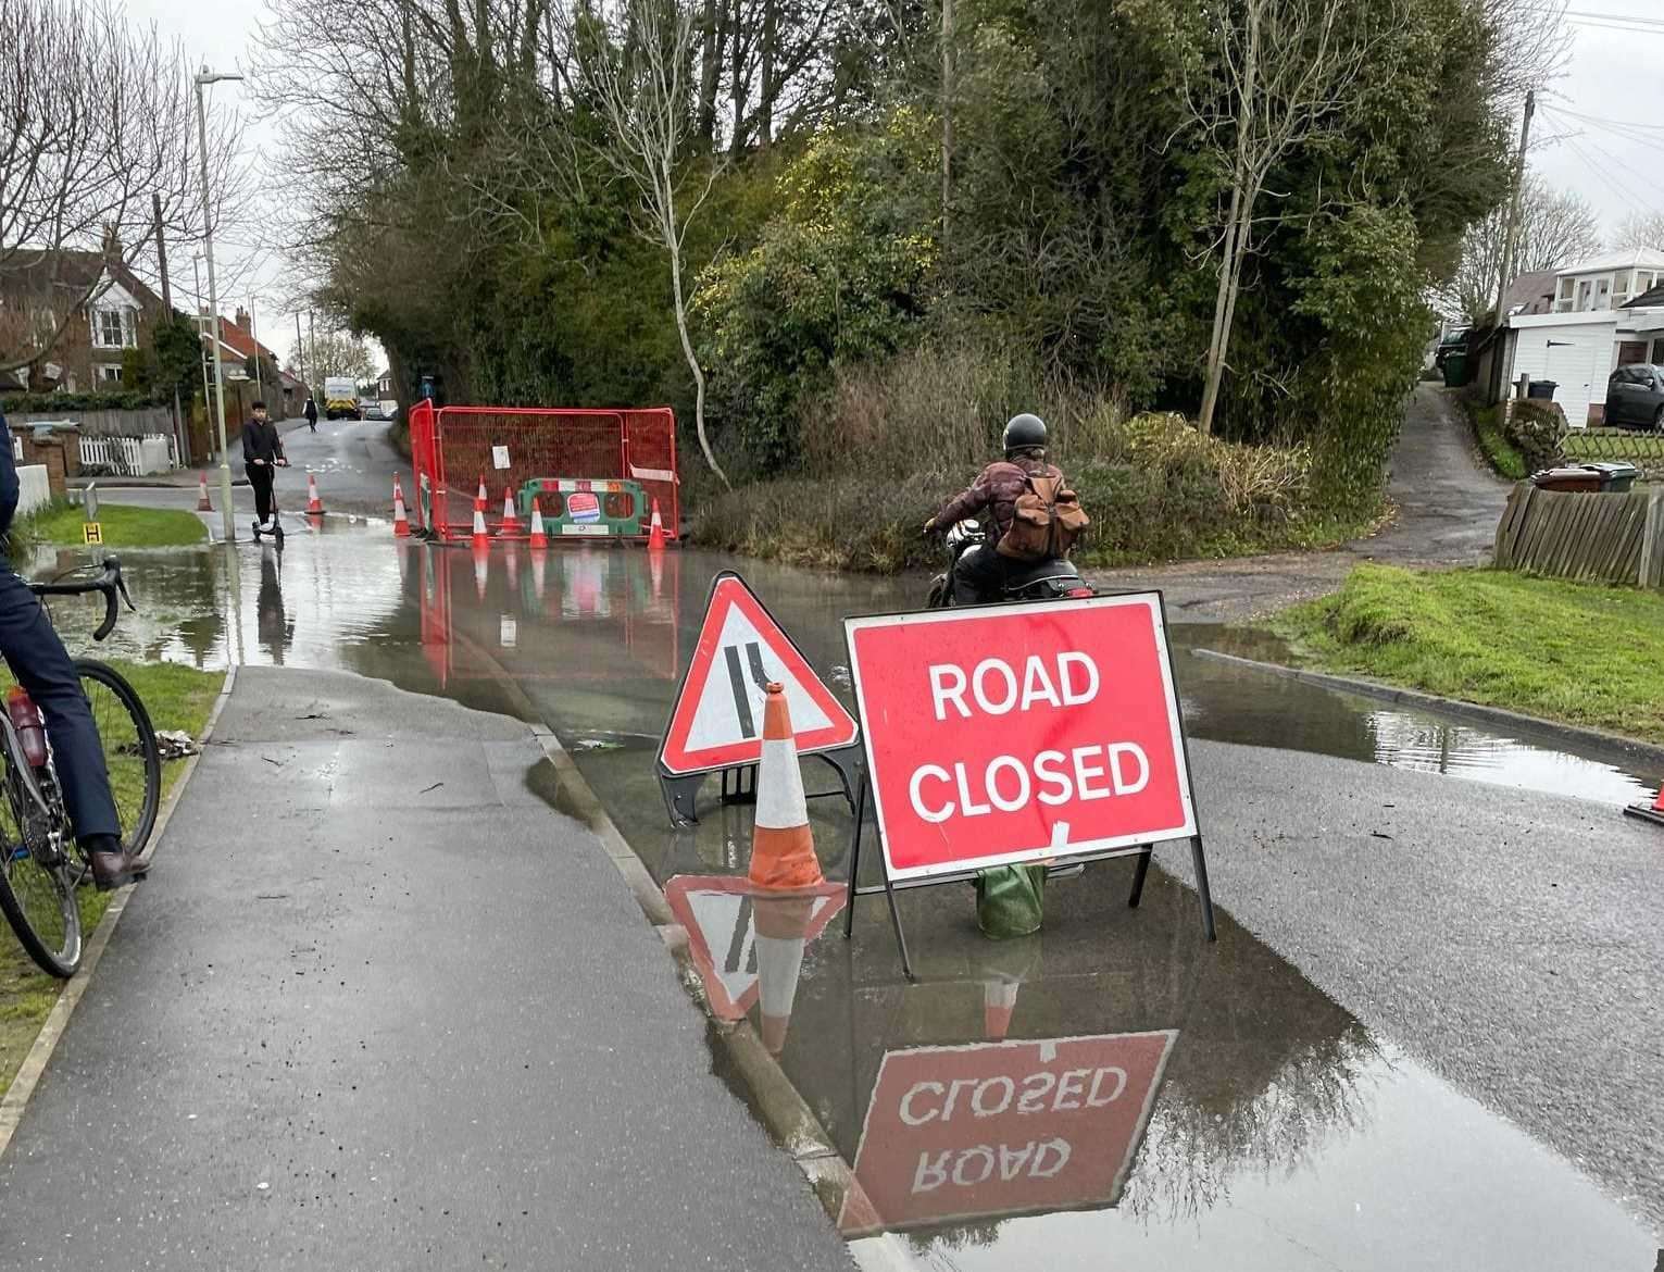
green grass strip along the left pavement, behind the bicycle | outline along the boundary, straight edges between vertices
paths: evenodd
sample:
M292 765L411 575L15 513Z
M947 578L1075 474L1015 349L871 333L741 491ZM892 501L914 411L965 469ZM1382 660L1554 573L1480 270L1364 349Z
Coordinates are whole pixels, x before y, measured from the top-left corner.
M158 729L183 729L191 738L201 738L215 696L225 683L221 673L203 673L171 663L111 663L111 666L138 689ZM10 684L10 676L0 676L0 683ZM163 763L163 801L183 771L181 759ZM88 936L103 917L110 897L110 892L82 889L82 931ZM63 982L38 971L12 929L0 922L0 1096L12 1086L18 1066L62 989Z

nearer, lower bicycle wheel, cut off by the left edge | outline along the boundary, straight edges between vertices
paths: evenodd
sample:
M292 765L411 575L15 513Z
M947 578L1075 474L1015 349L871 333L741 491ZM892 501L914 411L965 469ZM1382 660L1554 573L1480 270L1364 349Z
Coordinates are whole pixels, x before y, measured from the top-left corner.
M75 976L82 964L82 912L75 901L75 869L45 831L47 812L23 788L10 758L0 774L0 911L28 957L52 976ZM37 851L25 844L25 826Z

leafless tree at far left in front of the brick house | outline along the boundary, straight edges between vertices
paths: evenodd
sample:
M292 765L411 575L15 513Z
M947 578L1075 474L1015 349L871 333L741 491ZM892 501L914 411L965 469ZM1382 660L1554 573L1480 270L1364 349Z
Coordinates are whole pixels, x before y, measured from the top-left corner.
M52 353L113 266L148 273L156 233L191 240L203 225L190 65L111 0L0 0L0 118L8 373ZM216 193L236 140L238 125L218 117Z

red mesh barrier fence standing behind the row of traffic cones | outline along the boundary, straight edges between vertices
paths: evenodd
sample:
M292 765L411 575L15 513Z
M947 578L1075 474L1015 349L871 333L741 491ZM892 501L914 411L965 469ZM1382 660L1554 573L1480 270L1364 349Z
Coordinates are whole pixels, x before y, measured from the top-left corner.
M468 538L481 476L493 526L504 486L519 491L532 478L624 478L657 499L667 538L681 533L676 416L667 406L589 411L419 401L409 423L419 519L443 541ZM642 509L642 538L649 513L651 504Z

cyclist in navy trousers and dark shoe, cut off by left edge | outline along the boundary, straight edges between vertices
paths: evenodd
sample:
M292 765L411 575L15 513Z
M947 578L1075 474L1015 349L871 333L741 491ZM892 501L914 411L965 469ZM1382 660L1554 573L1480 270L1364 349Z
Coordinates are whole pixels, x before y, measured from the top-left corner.
M98 741L87 694L82 693L82 678L40 598L18 578L8 558L7 536L17 513L17 498L12 431L0 413L0 654L47 721L47 738L52 739L58 781L63 784L63 802L75 824L75 841L92 862L93 882L108 891L131 882L136 866L133 856L121 847L121 822L110 794L103 744Z

